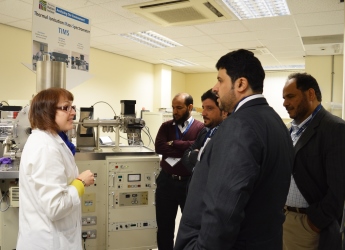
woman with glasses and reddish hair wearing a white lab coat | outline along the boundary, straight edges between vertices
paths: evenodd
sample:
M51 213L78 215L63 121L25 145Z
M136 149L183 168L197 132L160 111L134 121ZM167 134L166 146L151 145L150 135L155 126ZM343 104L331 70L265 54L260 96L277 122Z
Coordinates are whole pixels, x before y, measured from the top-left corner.
M19 169L17 250L82 249L80 197L95 179L90 170L79 174L75 148L63 133L73 127L72 102L72 93L62 88L43 90L32 100L32 133Z

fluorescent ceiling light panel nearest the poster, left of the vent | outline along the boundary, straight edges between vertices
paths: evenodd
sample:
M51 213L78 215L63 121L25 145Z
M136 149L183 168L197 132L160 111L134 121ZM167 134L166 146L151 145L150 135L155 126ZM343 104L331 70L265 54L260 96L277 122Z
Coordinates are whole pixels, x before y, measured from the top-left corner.
M153 31L141 31L135 33L120 34L120 36L144 44L151 48L167 48L182 46L181 44Z

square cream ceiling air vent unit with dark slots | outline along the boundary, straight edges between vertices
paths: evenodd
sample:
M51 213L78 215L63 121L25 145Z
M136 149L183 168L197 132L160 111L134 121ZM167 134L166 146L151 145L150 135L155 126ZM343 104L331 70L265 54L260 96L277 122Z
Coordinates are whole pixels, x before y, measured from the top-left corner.
M232 19L215 0L157 0L127 5L124 8L162 26Z

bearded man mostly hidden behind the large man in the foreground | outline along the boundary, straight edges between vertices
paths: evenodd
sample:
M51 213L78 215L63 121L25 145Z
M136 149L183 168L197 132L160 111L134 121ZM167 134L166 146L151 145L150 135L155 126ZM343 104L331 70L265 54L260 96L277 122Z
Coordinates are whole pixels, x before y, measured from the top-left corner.
M203 147L206 140L211 138L218 130L219 124L228 116L228 112L222 111L217 102L217 96L212 89L206 91L201 96L202 117L204 118L205 128L200 131L194 143L184 151L181 159L182 164L192 172L198 161L199 150Z

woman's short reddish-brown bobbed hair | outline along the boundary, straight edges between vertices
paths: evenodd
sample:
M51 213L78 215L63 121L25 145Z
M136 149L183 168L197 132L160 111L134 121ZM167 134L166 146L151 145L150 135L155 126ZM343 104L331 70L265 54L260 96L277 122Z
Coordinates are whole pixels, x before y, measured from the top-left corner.
M56 107L60 98L73 101L71 92L63 88L49 88L40 91L32 99L29 111L29 120L32 129L49 131L52 134L59 132L60 128L55 122Z

